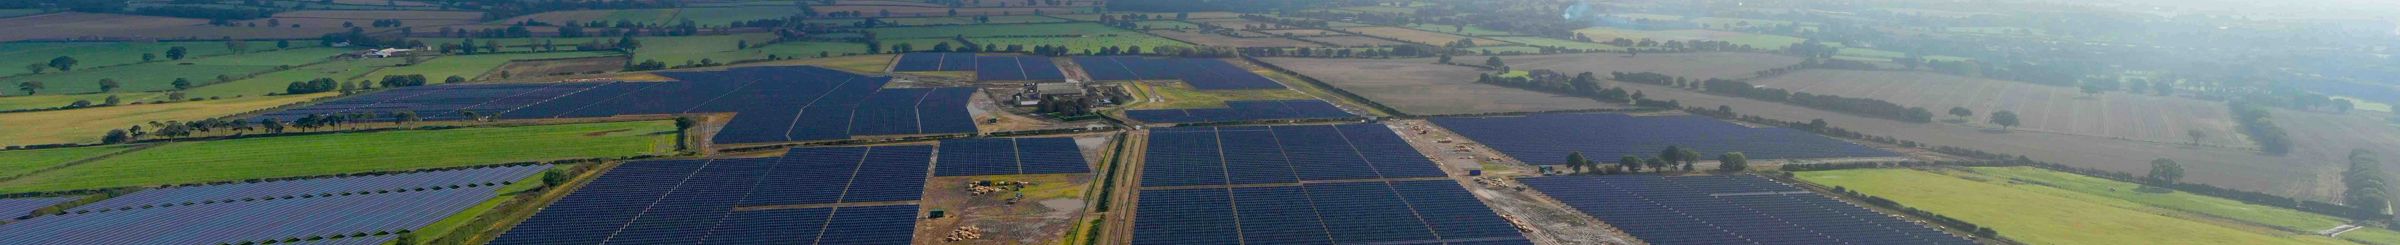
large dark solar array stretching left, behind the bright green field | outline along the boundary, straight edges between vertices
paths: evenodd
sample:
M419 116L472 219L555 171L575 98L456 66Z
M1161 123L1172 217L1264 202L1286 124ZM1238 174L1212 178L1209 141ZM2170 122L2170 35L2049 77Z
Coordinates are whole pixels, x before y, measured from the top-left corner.
M502 120L612 118L665 113L734 113L718 144L850 139L852 135L967 135L972 86L883 89L890 77L823 67L732 67L722 72L660 72L682 82L564 82L564 84L442 84L276 110L259 118L413 110L422 120L468 120L461 110Z

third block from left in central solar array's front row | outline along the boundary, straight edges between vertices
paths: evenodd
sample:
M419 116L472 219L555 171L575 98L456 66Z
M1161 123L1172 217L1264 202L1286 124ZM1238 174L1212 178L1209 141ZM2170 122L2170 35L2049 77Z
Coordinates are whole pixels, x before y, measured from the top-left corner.
M1334 243L1435 240L1426 221L1382 183L1306 185Z

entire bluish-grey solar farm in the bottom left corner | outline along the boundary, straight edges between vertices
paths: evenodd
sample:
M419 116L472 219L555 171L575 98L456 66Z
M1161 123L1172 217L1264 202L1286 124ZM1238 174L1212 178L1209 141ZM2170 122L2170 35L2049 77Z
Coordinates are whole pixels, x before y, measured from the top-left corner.
M74 211L0 228L24 245L382 245L499 195L502 185L550 166L494 166L394 175L142 190ZM62 199L22 199L62 202ZM0 202L19 204L19 199ZM14 207L10 207L14 209ZM264 221L259 216L278 216Z

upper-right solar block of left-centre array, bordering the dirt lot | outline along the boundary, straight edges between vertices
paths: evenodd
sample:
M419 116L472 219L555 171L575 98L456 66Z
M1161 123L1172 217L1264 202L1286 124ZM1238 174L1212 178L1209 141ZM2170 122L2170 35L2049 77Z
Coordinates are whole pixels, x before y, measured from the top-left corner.
M866 149L857 178L842 202L905 202L924 197L926 168L934 147L874 147Z

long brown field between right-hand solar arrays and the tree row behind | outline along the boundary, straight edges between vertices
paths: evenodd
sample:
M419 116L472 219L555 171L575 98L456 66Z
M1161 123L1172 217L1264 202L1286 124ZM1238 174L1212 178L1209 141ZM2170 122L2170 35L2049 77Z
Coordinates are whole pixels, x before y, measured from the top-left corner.
M1966 147L1994 154L2018 154L2035 161L2052 161L2081 168L2102 168L2117 173L2148 173L2153 159L2174 159L2184 163L2186 183L2206 183L2218 187L2256 190L2292 197L2333 199L2338 190L2338 171L2345 156L2340 154L2311 154L2294 151L2290 156L2263 156L2244 149L2218 149L2218 147L2189 147L2189 144L2160 144L2160 142L2129 142L2107 137L2083 137L2083 135L2054 135L2054 132L1999 132L1987 125L1956 125L1956 122L1898 122L1882 118L1860 118L1834 110L1800 108L1786 103L1733 98L1697 94L1670 86L1654 84L1630 84L1620 82L1615 86L1634 89L1649 94L1649 98L1673 98L1682 106L1733 106L1733 113L1759 115L1771 120L1826 120L1834 127L1860 130L1877 137L1910 139L1934 147ZM2285 113L2278 113L2285 115ZM2285 125L2299 127L2299 125ZM2292 132L2297 142L2306 142L2302 132ZM2306 149L2304 144L2302 149ZM2340 151L2350 151L2347 147Z

